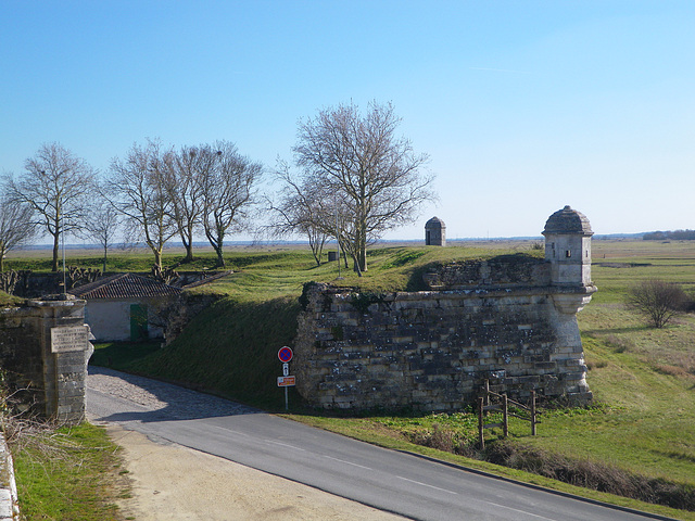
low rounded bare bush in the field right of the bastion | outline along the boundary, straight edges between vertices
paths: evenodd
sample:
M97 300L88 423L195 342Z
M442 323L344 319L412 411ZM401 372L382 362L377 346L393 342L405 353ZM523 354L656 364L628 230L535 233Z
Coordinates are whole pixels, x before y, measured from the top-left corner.
M659 279L642 281L628 290L626 304L649 320L655 328L662 328L674 316L682 313L687 297L672 282Z

